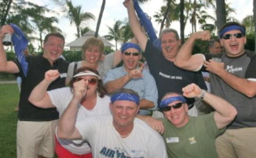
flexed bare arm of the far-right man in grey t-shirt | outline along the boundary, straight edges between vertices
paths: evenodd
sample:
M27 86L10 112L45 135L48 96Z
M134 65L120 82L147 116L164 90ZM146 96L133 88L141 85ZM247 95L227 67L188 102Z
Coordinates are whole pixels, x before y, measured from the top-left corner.
M203 65L204 58L202 54L192 55L194 43L197 39L209 40L210 36L209 31L199 31L190 35L177 53L174 64L182 69L198 70Z

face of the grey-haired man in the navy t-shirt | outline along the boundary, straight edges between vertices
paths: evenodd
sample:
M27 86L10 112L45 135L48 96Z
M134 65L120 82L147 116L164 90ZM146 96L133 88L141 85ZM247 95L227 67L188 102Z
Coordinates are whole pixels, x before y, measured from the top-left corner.
M164 33L161 37L161 47L164 57L169 61L174 61L180 44L181 41L176 39L175 33Z

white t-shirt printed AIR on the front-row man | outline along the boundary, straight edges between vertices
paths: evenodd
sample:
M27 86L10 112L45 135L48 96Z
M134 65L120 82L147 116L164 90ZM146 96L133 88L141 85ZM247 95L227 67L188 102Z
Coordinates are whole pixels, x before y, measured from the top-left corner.
M90 143L93 158L167 158L160 134L137 118L126 138L114 128L112 115L87 118L76 128Z

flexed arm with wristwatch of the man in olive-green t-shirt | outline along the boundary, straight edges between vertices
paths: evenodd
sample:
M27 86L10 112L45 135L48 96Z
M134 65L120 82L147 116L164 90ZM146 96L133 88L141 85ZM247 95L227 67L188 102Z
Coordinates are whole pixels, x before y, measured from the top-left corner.
M185 97L201 98L216 110L214 112L214 119L218 129L226 127L235 119L237 114L236 108L221 97L208 93L194 83L182 88L182 91Z

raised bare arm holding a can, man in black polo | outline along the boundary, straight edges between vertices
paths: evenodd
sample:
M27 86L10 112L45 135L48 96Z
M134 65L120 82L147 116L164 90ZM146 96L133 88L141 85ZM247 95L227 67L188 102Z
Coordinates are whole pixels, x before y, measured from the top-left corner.
M0 72L18 73L20 72L18 66L13 61L7 61L6 54L3 47L4 34L12 35L14 32L10 25L5 25L0 28Z

